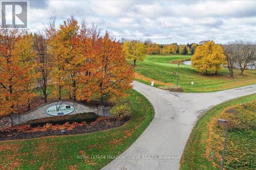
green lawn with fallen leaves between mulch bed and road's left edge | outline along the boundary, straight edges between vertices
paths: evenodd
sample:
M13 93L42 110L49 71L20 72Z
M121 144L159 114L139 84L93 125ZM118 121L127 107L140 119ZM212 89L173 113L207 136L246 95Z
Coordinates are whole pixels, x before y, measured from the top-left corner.
M100 169L112 159L78 159L120 155L141 135L154 117L151 103L129 91L133 117L120 128L95 133L0 141L0 169Z

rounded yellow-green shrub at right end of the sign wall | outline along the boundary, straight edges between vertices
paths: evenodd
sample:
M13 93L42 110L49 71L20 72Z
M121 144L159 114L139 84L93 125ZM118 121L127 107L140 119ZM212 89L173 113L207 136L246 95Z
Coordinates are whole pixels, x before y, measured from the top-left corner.
M117 116L120 119L131 117L131 108L127 103L114 106L110 109L112 115Z

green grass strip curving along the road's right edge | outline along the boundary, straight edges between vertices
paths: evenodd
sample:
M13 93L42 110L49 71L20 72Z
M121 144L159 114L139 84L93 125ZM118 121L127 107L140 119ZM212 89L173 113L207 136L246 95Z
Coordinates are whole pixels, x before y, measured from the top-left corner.
M210 122L211 117L220 114L221 111L226 107L250 102L253 100L256 100L256 94L243 96L242 98L234 99L215 106L214 108L206 112L202 117L200 117L187 141L186 148L184 149L182 155L180 169L219 169L212 166L212 164L203 156L206 149L204 141L208 138L208 123ZM229 140L232 140L233 138L230 138L230 135L231 134L229 133L228 138ZM242 138L243 137L241 137L240 139ZM243 144L246 145L246 143Z

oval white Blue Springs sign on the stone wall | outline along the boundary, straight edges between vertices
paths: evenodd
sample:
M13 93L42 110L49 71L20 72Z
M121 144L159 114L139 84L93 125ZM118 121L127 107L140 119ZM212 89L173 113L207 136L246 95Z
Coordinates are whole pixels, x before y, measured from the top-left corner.
M46 113L52 116L67 115L72 113L75 108L68 104L56 104L46 109Z

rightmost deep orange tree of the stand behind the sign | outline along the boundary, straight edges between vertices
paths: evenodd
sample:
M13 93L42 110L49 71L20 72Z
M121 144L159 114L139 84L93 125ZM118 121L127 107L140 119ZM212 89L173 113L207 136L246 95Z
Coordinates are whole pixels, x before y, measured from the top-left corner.
M122 46L115 39L110 38L108 32L105 33L104 37L98 39L98 42L98 47L100 47L97 49L96 65L98 68L96 72L93 72L93 75L97 85L96 94L100 100L100 105L103 105L104 100L125 95L124 92L131 88L134 71L125 61ZM135 49L136 45L142 46L138 42L129 42L129 44L125 42L124 46L126 47L126 45L130 44L135 44ZM144 50L144 44L142 47ZM136 50L141 51L142 47L137 47ZM132 59L138 60L138 58L134 57Z

